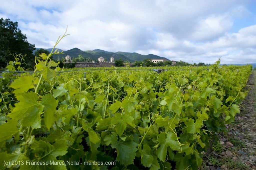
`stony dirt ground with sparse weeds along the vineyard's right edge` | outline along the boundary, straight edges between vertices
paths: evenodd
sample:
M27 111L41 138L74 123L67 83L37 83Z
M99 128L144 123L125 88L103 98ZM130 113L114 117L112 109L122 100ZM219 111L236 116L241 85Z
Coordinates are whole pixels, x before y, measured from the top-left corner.
M200 169L256 169L256 72L250 75L250 91L240 105L240 114L234 123L227 125L227 133L204 155Z

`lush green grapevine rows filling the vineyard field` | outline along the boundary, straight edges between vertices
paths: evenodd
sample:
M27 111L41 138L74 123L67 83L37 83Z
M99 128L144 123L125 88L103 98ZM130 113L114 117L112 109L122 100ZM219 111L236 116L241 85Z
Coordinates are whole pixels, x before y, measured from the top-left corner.
M252 66L61 71L1 78L0 169L198 169L234 121ZM110 164L111 163L111 164Z

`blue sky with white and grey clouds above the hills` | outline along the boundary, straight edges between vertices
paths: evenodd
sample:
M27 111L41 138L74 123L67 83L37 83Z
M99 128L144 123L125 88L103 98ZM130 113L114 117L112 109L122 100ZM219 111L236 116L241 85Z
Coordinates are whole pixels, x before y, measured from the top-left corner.
M30 44L155 54L188 63L256 63L256 0L2 0Z

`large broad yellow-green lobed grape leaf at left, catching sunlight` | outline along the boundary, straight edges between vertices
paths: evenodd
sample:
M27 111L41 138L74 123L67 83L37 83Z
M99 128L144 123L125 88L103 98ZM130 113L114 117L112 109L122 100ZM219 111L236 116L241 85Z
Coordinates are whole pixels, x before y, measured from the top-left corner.
M14 120L21 119L23 126L31 126L33 129L40 128L40 114L44 106L37 102L37 94L33 92L21 93L17 99L20 102L15 104L16 107L9 114L9 117Z

